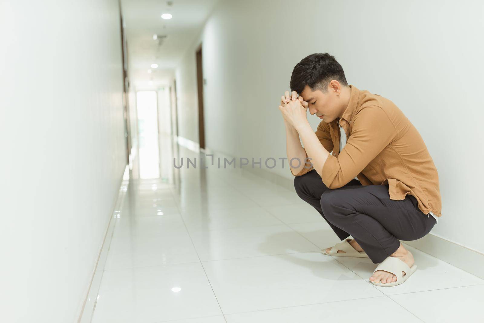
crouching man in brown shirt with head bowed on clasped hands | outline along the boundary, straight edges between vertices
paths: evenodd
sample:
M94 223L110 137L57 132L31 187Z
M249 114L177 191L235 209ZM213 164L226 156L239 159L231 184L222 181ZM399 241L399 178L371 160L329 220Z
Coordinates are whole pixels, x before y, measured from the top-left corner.
M344 240L323 253L368 257L380 263L373 284L403 283L416 264L398 239L423 237L441 216L439 176L422 137L392 101L348 86L328 53L302 59L290 88L279 109L294 186ZM321 119L316 132L308 109Z

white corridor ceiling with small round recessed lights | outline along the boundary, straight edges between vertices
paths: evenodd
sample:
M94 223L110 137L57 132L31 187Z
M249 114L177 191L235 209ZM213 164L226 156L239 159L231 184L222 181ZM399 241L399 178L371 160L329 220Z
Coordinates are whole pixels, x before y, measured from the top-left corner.
M136 90L156 89L168 84L182 55L195 41L218 1L121 0L130 81ZM165 13L173 17L162 19L161 15ZM166 38L155 41L153 34L166 35ZM152 69L152 63L158 64L158 68Z

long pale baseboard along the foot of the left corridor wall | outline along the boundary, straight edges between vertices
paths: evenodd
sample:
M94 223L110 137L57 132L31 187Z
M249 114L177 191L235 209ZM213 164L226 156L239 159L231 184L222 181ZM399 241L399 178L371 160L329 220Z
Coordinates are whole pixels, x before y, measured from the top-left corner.
M91 277L91 283L86 294L86 298L84 299L84 304L80 310L80 314L78 315L77 323L91 322L92 314L94 313L94 308L96 307L97 294L99 292L99 287L101 285L101 279L103 277L104 267L106 264L107 251L109 250L109 245L111 244L111 237L114 231L115 221L113 221L113 218L118 217L121 212L124 196L128 189L128 183L129 165L126 165L121 179L121 185L118 191L118 197L116 198L114 210L109 215L109 223L107 225L106 234L104 235L103 244L98 253L97 262Z

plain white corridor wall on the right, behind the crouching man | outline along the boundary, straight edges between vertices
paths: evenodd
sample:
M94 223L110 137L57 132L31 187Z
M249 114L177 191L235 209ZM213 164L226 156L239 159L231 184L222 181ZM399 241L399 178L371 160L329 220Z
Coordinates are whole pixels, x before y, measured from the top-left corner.
M277 106L294 65L329 52L349 84L392 100L421 133L442 195L432 233L484 252L483 16L479 0L222 1L176 72L180 135L198 141L200 41L207 147L263 160L285 157ZM308 118L316 129L320 120ZM292 177L287 168L269 171Z

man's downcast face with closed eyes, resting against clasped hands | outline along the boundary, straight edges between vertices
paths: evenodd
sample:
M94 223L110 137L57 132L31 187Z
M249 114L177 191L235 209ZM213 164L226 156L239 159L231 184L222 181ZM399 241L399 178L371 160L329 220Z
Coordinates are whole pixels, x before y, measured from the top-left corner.
M323 93L320 89L313 91L306 85L300 93L302 99L308 103L309 113L316 115L326 123L330 123L340 117L341 106L338 100L337 89L328 85L328 89Z

